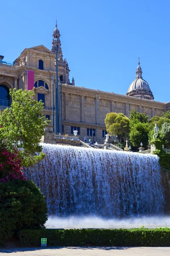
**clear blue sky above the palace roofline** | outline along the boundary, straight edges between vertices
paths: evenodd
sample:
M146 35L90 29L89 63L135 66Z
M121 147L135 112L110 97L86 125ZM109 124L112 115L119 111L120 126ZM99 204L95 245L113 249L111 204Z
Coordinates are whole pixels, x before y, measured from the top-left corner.
M75 85L125 94L138 57L156 101L170 101L170 1L1 1L0 55L51 49L57 17L62 52Z

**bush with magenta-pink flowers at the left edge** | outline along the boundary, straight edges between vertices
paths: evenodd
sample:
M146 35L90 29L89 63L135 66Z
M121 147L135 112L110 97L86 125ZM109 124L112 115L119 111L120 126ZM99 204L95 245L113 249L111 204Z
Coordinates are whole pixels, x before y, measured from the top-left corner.
M18 152L9 152L5 148L0 149L0 182L8 182L11 180L26 180L23 175L22 160Z

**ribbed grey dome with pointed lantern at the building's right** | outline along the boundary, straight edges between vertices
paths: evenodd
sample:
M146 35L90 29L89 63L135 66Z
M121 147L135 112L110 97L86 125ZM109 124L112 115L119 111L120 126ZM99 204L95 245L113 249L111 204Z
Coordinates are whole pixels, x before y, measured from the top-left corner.
M143 99L154 99L149 84L142 78L140 61L138 62L138 67L136 69L136 79L130 84L126 95Z

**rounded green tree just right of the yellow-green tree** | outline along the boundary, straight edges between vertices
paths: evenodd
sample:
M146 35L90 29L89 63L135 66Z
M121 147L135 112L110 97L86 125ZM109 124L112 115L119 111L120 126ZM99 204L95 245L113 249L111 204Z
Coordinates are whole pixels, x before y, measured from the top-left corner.
M143 143L143 147L147 148L148 144L148 132L149 124L138 122L130 127L129 140L130 143L135 147L140 147L140 143Z

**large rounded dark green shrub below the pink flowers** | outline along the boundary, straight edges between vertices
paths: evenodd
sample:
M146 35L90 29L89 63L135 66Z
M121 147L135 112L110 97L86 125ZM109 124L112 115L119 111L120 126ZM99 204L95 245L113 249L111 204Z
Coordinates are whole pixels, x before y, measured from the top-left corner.
M44 228L47 205L33 181L0 182L0 243L21 229Z

